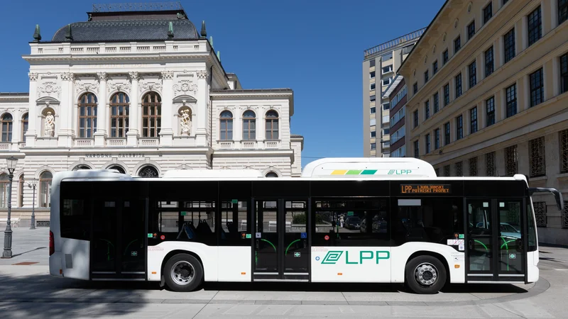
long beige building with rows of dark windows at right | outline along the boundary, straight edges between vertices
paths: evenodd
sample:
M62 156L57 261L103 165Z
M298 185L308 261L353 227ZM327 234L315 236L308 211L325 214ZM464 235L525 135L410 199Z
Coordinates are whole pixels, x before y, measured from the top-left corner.
M407 156L438 176L525 174L568 201L568 1L448 0L398 70ZM568 245L568 202L533 197L541 242Z

